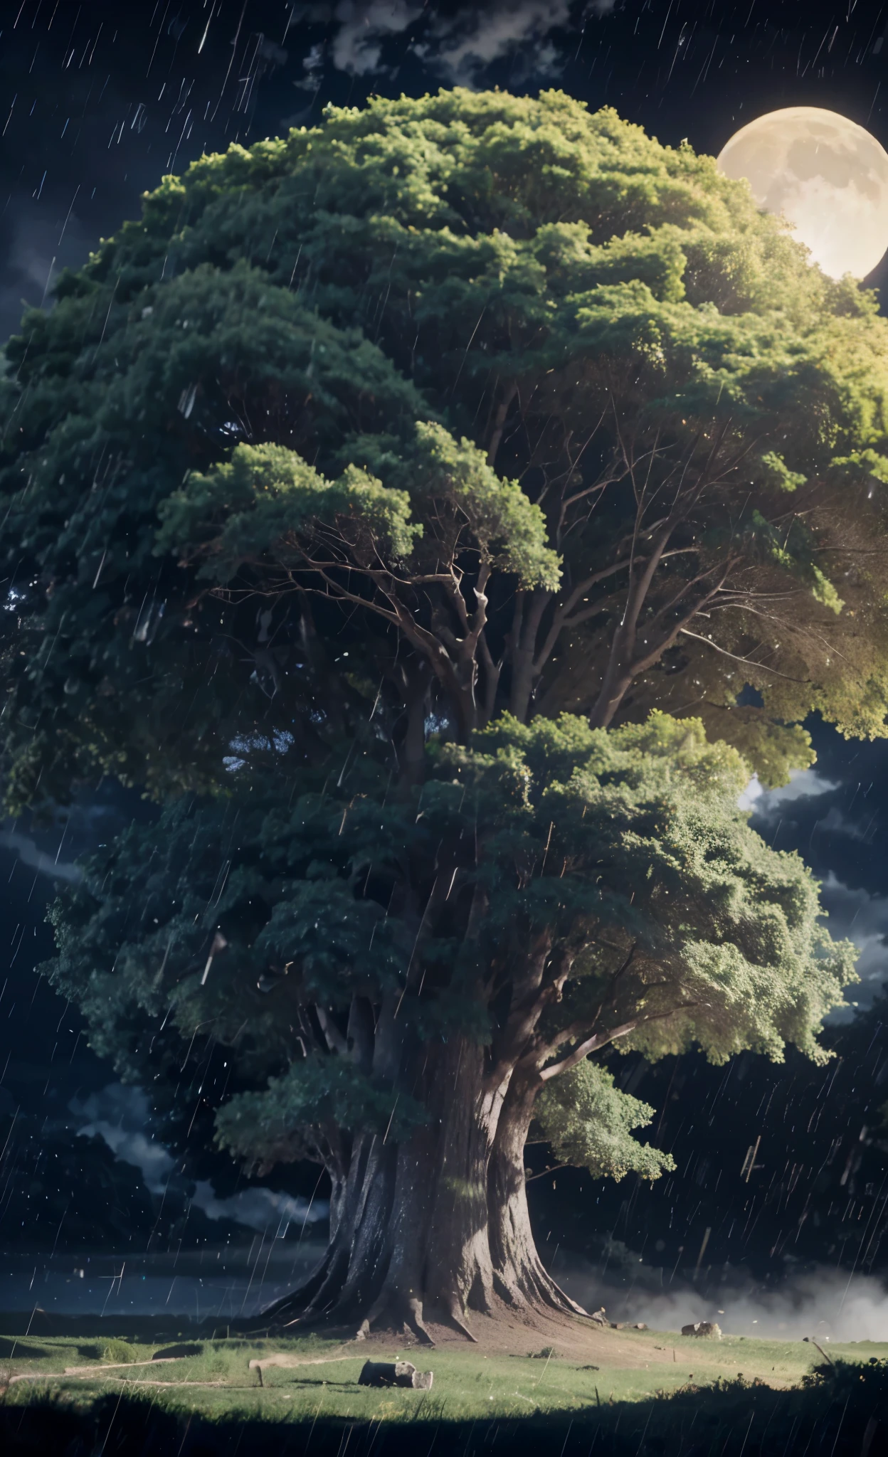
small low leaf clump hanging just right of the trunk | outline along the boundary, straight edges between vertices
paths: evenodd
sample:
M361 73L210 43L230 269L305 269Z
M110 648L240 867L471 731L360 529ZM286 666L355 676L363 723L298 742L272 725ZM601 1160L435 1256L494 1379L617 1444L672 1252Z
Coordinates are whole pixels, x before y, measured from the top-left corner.
M595 1179L628 1173L659 1179L675 1170L671 1154L631 1136L633 1129L650 1123L650 1104L621 1093L612 1074L595 1062L577 1062L563 1078L547 1083L535 1118L558 1163L588 1169Z

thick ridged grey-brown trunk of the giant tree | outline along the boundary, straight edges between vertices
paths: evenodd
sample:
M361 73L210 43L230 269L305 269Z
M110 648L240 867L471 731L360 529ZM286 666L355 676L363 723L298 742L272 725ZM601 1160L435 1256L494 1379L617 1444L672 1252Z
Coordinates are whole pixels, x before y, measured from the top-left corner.
M550 1279L531 1233L523 1145L538 1080L500 1100L484 1072L484 1049L452 1039L430 1068L429 1120L400 1145L354 1141L327 1253L300 1289L264 1311L264 1324L348 1324L360 1338L379 1321L430 1342L426 1320L474 1339L472 1311L582 1314Z

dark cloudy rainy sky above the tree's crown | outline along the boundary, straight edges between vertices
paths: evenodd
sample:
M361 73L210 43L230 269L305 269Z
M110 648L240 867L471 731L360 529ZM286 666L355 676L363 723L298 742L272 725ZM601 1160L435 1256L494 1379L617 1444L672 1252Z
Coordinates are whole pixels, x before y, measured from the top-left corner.
M726 0L706 17L669 0L13 9L0 50L0 337L22 299L39 305L50 271L83 262L165 172L309 125L327 102L554 83L713 152L749 117L798 102L882 130L878 35L860 6L836 17L822 48L825 9L821 28L821 7L798 0Z

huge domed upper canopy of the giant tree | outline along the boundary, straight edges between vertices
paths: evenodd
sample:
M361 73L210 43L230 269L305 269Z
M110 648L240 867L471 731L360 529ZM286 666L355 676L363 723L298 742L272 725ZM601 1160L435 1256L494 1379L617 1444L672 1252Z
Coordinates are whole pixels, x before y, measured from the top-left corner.
M766 781L811 710L881 734L887 328L558 92L203 157L7 345L10 803L370 708L413 772L503 708L691 712Z

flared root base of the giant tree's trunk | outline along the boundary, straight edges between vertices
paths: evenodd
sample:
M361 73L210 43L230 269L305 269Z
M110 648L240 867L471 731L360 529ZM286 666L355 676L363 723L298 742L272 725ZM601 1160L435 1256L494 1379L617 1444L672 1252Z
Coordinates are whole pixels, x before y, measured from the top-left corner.
M417 1147L398 1150L366 1139L353 1150L318 1268L242 1324L255 1333L324 1326L357 1340L385 1326L435 1346L430 1320L477 1343L472 1313L529 1323L589 1319L534 1246L522 1163L528 1120L525 1110L487 1171L468 1116L449 1128L446 1148L455 1154L442 1154L440 1164L418 1135Z

